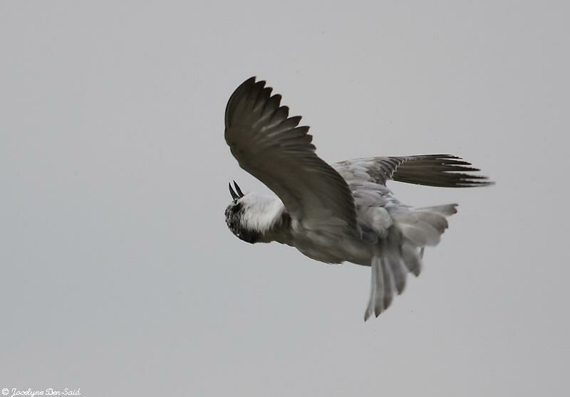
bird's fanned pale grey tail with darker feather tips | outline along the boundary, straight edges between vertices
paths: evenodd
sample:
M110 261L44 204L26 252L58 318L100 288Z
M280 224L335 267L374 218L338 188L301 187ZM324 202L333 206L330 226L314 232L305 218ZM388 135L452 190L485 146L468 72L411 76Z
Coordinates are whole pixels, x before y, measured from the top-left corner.
M388 309L394 295L403 292L408 272L420 275L425 246L440 242L447 229L446 218L454 213L457 204L405 208L390 213L394 226L373 253L371 291L364 321Z

